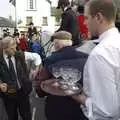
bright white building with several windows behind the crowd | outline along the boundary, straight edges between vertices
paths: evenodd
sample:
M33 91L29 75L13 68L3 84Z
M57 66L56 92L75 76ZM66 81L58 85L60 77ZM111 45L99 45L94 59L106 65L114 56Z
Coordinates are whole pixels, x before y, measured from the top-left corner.
M43 30L54 31L55 19L51 17L50 0L16 0L15 6L11 5L10 11L20 31L26 30L30 22L38 30L42 27Z

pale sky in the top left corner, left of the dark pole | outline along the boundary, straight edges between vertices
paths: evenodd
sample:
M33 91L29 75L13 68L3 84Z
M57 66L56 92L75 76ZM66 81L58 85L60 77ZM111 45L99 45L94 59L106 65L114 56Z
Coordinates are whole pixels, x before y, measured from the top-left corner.
M9 17L9 0L0 0L0 17Z

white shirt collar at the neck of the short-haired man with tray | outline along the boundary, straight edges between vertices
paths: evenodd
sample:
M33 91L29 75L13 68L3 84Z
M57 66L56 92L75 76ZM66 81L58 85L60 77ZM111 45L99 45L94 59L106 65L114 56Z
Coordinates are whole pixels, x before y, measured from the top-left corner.
M109 36L110 34L114 34L114 33L119 33L118 29L115 27L110 28L109 30L105 31L104 33L100 35L99 42L101 42L105 37Z

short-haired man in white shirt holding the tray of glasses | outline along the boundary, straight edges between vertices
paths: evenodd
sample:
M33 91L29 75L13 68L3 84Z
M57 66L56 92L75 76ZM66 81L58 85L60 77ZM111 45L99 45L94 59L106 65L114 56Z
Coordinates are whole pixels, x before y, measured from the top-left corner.
M120 34L115 28L116 6L112 0L90 0L85 5L89 31L99 36L83 79L84 93L73 96L83 105L89 120L120 118Z

